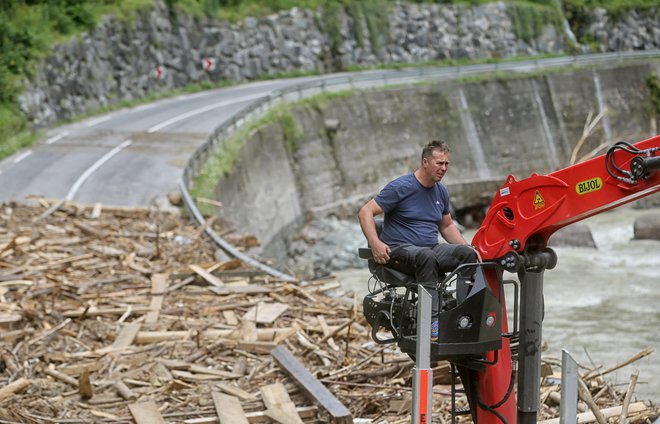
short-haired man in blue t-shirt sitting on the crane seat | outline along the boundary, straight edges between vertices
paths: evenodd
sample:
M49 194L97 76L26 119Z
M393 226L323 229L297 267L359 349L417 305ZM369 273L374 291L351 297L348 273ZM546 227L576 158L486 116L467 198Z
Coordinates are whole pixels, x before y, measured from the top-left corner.
M463 263L476 262L449 213L449 193L440 183L449 168L449 146L431 141L422 150L420 167L390 182L368 201L358 218L376 263L415 276L432 298L431 337L438 337L439 278ZM378 237L374 217L385 213ZM438 243L438 232L449 244Z

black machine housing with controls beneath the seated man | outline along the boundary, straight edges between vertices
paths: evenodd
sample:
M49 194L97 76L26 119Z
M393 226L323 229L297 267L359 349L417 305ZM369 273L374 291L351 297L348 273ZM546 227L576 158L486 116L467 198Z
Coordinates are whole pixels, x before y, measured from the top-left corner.
M397 343L411 356L417 341L417 283L414 276L377 264L371 249L359 249L375 284L363 300L376 343ZM483 274L487 264L464 264L438 282L439 336L431 343L431 360L483 363L487 352L502 347L502 307ZM391 337L381 338L381 330ZM473 368L474 366L470 366Z

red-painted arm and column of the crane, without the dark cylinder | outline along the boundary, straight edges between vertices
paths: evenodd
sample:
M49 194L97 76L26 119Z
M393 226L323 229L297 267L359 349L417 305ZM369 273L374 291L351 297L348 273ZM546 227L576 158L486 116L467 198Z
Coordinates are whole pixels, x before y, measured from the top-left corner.
M533 174L520 181L509 176L472 241L484 262L502 265L501 269L485 271L493 293L503 293L500 286L507 258L543 250L560 228L659 192L660 172L654 172L659 168L660 136L655 136L614 147L605 155L548 175ZM506 302L500 301L502 332L506 333ZM493 352L488 355L494 359ZM509 340L503 339L495 364L475 373L471 382L479 400L472 409L477 409L480 424L501 423L503 419L508 424L517 422L516 396L507 394L511 391L511 370ZM519 392L522 390L525 388L518 387Z

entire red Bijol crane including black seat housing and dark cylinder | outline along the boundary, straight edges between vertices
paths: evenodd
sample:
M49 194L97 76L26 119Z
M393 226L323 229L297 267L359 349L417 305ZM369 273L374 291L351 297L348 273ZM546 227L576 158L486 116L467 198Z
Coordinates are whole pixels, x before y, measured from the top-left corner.
M548 175L533 174L520 181L509 176L499 188L472 240L483 263L463 265L438 283L440 336L430 347L432 359L446 359L456 367L475 422L536 423L543 273L557 263L547 248L548 239L562 227L659 192L658 170L660 136L655 136L636 144L618 142L604 155ZM360 256L370 259L370 249L360 249ZM415 355L414 277L371 259L369 268L379 283L363 302L373 339L396 342L402 351ZM512 331L502 287L508 283L505 271L517 273L520 286ZM392 337L379 338L380 329Z

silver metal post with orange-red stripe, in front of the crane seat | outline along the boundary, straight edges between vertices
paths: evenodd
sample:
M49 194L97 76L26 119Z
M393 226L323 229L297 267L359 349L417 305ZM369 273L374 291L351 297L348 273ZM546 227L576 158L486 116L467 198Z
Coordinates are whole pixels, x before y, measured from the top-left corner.
M433 370L431 369L431 295L418 286L417 346L413 368L413 424L431 424Z

